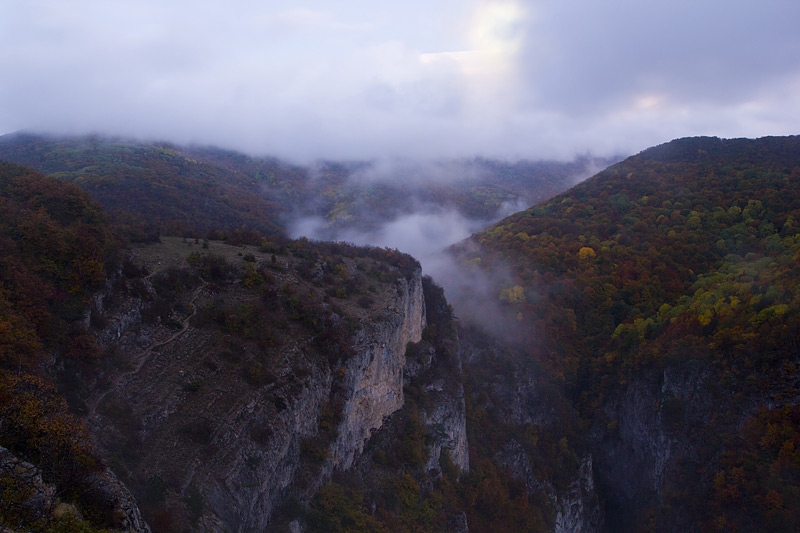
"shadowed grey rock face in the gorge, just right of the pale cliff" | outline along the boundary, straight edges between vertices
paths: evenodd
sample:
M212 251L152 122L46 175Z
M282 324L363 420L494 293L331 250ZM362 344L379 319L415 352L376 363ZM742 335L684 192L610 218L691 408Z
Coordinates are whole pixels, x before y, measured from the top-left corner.
M575 456L570 448L573 443L564 437L565 433L570 433L570 438L576 434L570 429L577 421L568 408L569 400L552 384L537 379L535 368L525 364L524 354L475 330L465 330L463 337L465 366L479 383L473 391L478 408L502 424L495 437L499 449L494 461L523 482L529 496L549 508L552 531L603 531L604 514L595 488L597 473L592 455L583 450L581 456ZM532 442L528 438L523 445L522 437L531 432L536 433L536 439ZM546 439L559 442L551 446ZM548 447L560 451L543 456L538 448ZM555 477L557 482L552 479Z

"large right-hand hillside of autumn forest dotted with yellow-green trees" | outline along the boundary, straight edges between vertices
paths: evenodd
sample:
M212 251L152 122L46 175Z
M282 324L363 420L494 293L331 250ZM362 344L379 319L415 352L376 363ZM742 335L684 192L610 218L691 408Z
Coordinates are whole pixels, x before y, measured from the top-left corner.
M800 138L682 139L456 251L473 268L510 266L513 280L498 288L505 320L519 326L509 340L564 387L587 424L637 376L676 365L713 373L718 386L709 394L720 416L698 429L708 444L698 460L709 466L680 474L674 484L696 490L668 491L665 507L641 520L688 506L709 530L747 530L760 518L792 529L800 523L788 503L800 487L789 466L793 444L784 450L788 462L767 468L764 461L775 461L767 450L732 443L742 406L764 398L775 411L747 427L778 424L780 446L798 430L781 407L796 397L798 220ZM691 418L679 399L668 407L675 428ZM731 468L743 461L751 467L735 481Z

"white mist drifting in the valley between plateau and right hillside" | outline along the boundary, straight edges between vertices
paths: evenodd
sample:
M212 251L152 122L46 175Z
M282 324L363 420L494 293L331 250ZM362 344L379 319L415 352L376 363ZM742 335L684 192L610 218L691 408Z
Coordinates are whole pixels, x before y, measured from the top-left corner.
M361 191L367 200L372 194L370 191L376 189L384 194L401 191L388 212L370 209L369 202L361 197L349 206L345 216L336 213L341 218L314 214L289 218L285 224L292 238L349 242L410 254L420 261L423 274L431 276L442 286L448 302L463 322L503 335L514 326L499 318L501 302L498 294L511 284L510 269L499 262L491 271L484 271L475 264L460 264L449 248L465 243L472 234L583 181L616 159L619 157L599 159L583 156L572 163L515 164L485 160L395 160L354 165L340 190ZM536 180L543 179L547 172L558 177L555 180L558 185L553 187L552 183L542 182L537 188ZM310 182L324 181L322 173L312 172ZM475 189L483 192L484 188L490 188L488 185L506 191L510 197L488 209L491 216L469 216L463 206L459 209L454 205L453 198L460 192L474 192ZM448 191L450 196L442 196L439 203L434 203L435 199L429 196L437 188ZM511 192L514 190L526 191L526 194ZM316 197L306 209L325 211L322 204L322 199Z

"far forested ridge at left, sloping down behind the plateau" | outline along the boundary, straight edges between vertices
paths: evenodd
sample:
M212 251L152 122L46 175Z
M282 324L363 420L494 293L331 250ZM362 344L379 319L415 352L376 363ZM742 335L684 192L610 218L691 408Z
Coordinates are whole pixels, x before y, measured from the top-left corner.
M283 232L281 208L255 179L170 145L16 134L0 147L0 157L87 191L134 238L206 236L243 226L263 235Z

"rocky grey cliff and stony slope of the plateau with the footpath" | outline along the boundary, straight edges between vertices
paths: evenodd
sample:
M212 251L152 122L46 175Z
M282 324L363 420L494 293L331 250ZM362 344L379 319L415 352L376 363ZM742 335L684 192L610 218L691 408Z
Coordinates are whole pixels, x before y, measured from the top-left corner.
M285 265L284 290L297 291L303 282ZM177 315L147 323L156 296L149 279L137 280L137 295L105 313L98 339L116 368L95 384L89 425L149 516L163 521L156 530L263 530L287 498L310 498L353 464L403 406L406 345L426 324L420 270L394 279L377 287L369 312L320 304L305 319L355 319L338 360L301 329L264 355L194 318L225 302L249 305L236 283L200 283L181 293Z

